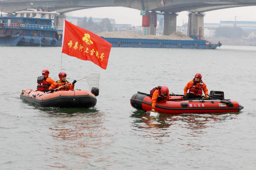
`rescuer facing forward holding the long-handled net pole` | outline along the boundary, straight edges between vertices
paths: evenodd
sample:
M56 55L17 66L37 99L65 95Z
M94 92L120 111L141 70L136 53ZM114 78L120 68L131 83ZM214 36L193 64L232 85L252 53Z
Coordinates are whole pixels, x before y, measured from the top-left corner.
M61 86L63 86L63 87L58 88L56 91L60 91L60 90L66 90L66 91L68 91L68 90L74 90L74 84L76 83L76 80L74 80L74 81L72 82L72 84L69 84L70 82L68 82L68 81L66 80L66 77L67 77L66 72L63 72L63 71L60 72L60 73L59 73L59 78L60 78L60 80L54 82L54 83L49 87L49 90L50 90L51 92L54 92L54 89L56 89L56 88L58 88L58 87L61 87ZM66 84L68 84L68 85L66 85ZM64 85L66 85L66 86L64 86Z

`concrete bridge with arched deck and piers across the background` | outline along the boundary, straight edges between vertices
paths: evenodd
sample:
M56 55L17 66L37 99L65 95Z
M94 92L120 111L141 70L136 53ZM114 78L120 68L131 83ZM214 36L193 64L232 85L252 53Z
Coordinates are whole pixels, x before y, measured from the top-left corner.
M0 0L0 8L4 12L15 12L31 7L33 3L37 8L56 10L64 18L64 13L87 8L120 6L145 10L150 14L150 25L146 27L146 34L155 34L155 15L164 15L164 35L176 31L177 12L189 11L188 35L198 35L199 28L204 27L204 12L224 8L242 6L256 6L256 0Z

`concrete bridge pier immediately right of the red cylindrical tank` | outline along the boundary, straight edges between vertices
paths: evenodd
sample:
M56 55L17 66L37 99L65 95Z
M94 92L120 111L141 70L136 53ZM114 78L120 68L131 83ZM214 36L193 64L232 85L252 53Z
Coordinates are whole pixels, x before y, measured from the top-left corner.
M178 14L176 13L164 13L164 35L176 32L177 16Z

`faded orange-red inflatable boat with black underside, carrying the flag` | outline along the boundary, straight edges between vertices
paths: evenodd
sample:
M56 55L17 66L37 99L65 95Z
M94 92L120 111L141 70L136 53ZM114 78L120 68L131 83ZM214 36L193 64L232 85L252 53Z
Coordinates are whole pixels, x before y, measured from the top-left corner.
M25 89L20 93L20 98L42 107L89 108L94 107L97 102L95 95L86 90L70 90L45 93L37 90Z

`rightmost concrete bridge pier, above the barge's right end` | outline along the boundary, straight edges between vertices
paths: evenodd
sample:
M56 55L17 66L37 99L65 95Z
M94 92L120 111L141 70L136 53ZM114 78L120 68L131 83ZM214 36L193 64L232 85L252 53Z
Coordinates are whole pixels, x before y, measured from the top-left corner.
M188 36L198 36L200 27L204 30L204 14L200 12L188 14Z

